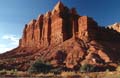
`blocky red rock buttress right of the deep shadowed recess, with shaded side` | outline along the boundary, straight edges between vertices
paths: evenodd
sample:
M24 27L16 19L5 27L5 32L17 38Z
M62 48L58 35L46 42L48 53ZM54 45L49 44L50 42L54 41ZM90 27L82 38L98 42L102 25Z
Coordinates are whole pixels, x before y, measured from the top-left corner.
M87 16L79 17L78 19L78 37L84 41L89 41L95 38L98 32L97 23Z

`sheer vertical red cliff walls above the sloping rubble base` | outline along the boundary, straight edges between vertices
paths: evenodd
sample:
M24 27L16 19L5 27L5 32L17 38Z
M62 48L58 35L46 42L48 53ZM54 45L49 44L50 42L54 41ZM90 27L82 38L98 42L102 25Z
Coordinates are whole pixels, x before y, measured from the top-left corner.
M59 2L52 12L41 15L25 26L21 47L48 47L57 45L72 37L82 40L94 37L97 23L79 16L75 8L69 10Z

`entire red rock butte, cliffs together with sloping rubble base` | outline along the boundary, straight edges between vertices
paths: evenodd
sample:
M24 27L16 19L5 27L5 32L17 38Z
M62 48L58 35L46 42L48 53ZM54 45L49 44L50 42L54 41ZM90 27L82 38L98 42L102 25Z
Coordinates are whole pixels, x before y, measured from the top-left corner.
M0 69L27 70L39 58L70 69L84 63L113 65L120 61L119 40L118 33L58 2L52 11L25 25L19 47L0 55Z

